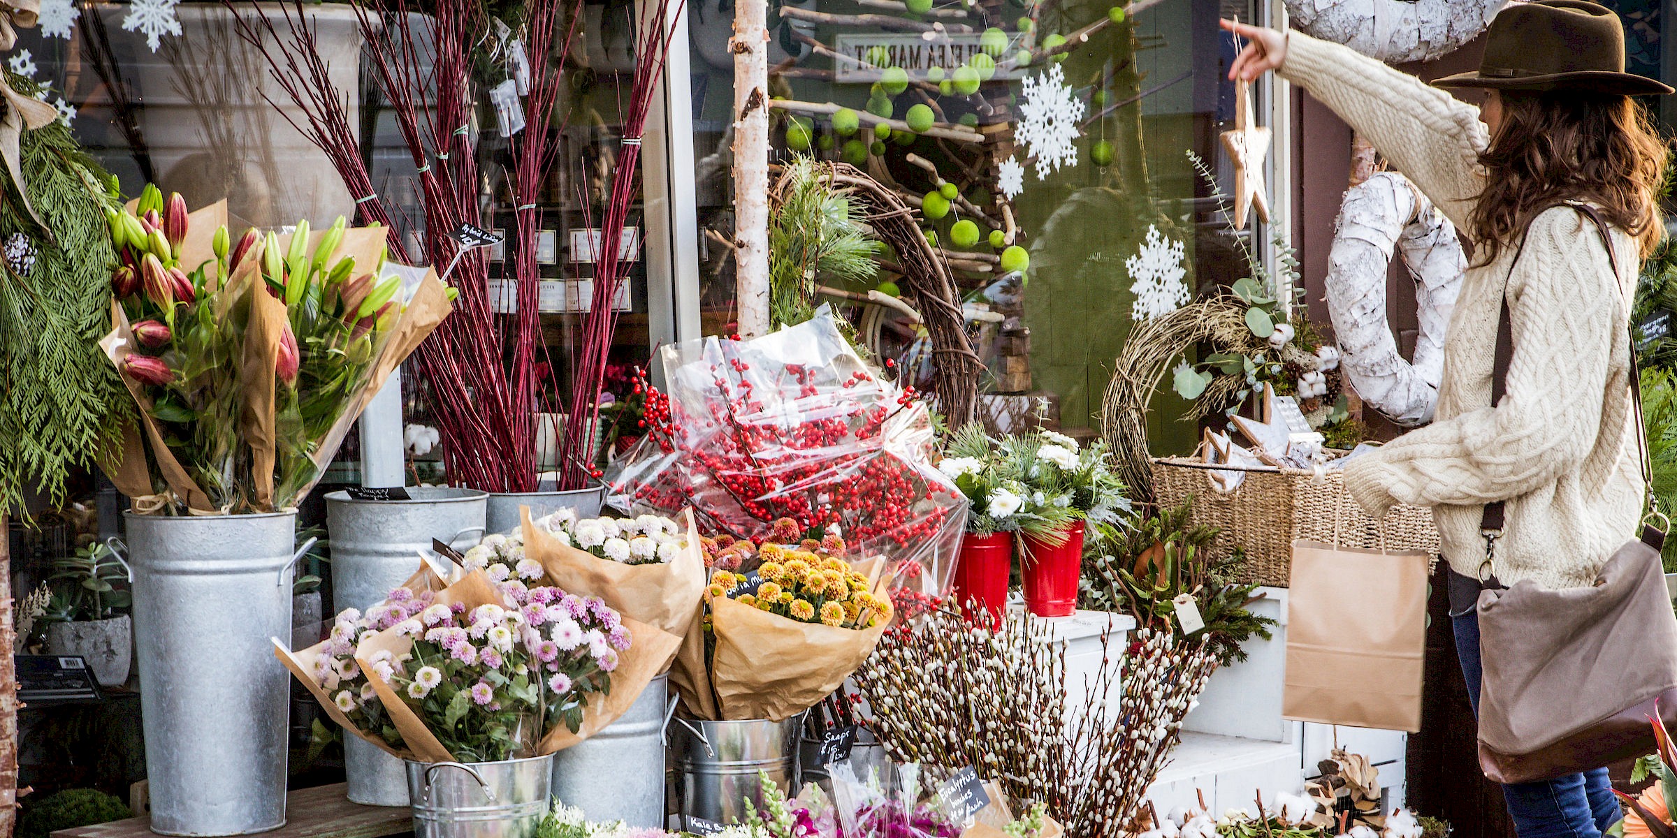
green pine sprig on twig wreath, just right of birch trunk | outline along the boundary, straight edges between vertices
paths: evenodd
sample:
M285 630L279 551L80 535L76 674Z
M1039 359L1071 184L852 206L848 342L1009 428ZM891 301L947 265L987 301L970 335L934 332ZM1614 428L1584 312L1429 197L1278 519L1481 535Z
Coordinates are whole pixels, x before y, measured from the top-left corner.
M879 270L879 243L850 191L833 186L830 168L800 154L787 171L768 220L768 308L776 327L815 317L817 277L862 282Z

